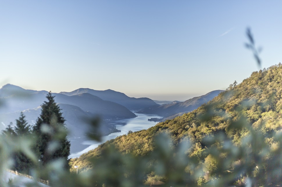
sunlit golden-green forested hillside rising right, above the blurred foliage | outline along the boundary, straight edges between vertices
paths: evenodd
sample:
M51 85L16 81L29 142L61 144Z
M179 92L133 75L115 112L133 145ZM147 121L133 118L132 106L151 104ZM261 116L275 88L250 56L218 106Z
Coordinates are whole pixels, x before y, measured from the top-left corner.
M240 147L240 145L245 143L242 142L243 138L251 133L250 127L253 127L252 129L265 137L265 139L259 138L258 142L264 142L265 140L269 150L280 150L278 149L279 144L277 140L272 135L282 129L281 122L282 66L279 64L268 69L253 72L241 84L231 85L227 91L220 93L213 100L190 113L176 117L173 120L158 123L147 130L119 136L114 140L101 144L97 149L91 150L79 158L72 159L71 164L73 166L78 165L82 170L91 168L92 165L87 160L99 157L103 150L110 145L114 145L121 153L132 153L136 156L149 155L155 149L153 142L156 134L168 132L172 138L173 147L180 142L192 142L192 147L187 152L188 157L196 159L199 166L201 166L201 164L208 162L207 160L210 159L206 150L210 148L212 148L210 150L223 150L221 142L215 142L210 145L205 141L205 136L210 135L213 137L216 134L223 133L225 139L230 138L234 146ZM241 148L236 149L240 153ZM226 152L224 154L215 152L213 154L217 155L216 160L224 160L228 155L236 155L236 152ZM252 155L253 153L244 154ZM252 162L245 162L244 164L243 160L245 157L238 155L236 156L238 163L236 161L235 165L225 167L235 170L236 164L242 164L240 165L241 167L253 164L252 166L255 168L257 162L263 162L257 157ZM269 156L265 157L265 159L269 159ZM222 161L217 162L218 167L220 163ZM279 163L277 164L279 165ZM264 168L267 167L264 166ZM242 171L242 168L239 169ZM259 172L262 171L272 172L272 170L262 169ZM192 171L186 169L186 172ZM239 173L238 175L241 174ZM245 175L247 174L243 174L243 176ZM275 181L276 179L273 178L272 180Z

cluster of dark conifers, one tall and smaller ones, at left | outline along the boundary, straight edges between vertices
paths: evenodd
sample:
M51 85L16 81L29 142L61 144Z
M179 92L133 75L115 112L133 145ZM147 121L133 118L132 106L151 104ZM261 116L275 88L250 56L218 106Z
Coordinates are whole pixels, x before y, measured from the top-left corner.
M19 118L16 119L15 126L13 127L10 123L2 131L2 135L15 142L25 141L25 145L30 145L29 148L37 157L36 160L31 159L28 152L18 147L13 150L11 169L30 174L32 169L38 165L44 166L53 160L61 159L64 160L63 167L69 170L70 141L67 139L65 119L54 97L51 91L47 94L47 101L41 105L41 114L34 125L28 124L26 116L21 112ZM21 144L18 143L18 146ZM36 161L38 163L35 163Z

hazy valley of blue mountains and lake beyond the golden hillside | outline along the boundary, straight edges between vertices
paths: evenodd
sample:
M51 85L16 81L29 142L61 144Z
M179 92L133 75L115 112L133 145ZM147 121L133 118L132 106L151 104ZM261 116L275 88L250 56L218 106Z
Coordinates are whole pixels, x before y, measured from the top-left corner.
M0 130L5 129L8 124L13 126L21 111L30 124L35 124L41 112L40 105L47 93L47 91L27 90L11 84L4 85L0 89L2 102ZM157 104L158 101L154 102L149 98L130 98L124 93L110 89L97 91L81 88L72 92L52 94L66 119L65 124L69 131L68 139L71 142L70 152L72 155L70 157L76 157L96 148L107 140L126 134L128 131L140 131L157 124L157 122L148 121L150 118L164 119L164 117L178 111L194 110L218 93L220 91L213 91L205 96L185 102L160 101L161 104L165 103L163 105ZM183 105L185 105L184 109ZM103 135L103 140L99 143L89 141L85 135L91 128L90 121L94 118L101 119L99 133Z

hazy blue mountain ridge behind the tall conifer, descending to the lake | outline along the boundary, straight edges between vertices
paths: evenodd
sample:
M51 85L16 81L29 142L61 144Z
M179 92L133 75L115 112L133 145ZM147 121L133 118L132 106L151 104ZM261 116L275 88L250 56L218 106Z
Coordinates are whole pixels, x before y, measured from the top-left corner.
M47 91L26 90L15 85L5 85L0 89L1 97L0 113L11 113L34 109L40 106L46 100ZM9 93L10 95L8 95ZM123 119L134 118L134 113L126 107L115 102L105 101L89 93L82 93L75 96L67 96L60 93L52 93L56 103L78 106L83 111L89 111L92 114L100 115L103 119Z

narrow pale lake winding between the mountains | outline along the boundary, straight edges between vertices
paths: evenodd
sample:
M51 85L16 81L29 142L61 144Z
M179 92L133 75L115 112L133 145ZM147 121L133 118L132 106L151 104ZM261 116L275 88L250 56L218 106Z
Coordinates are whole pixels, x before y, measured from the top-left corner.
M112 121L110 123L115 124L116 128L118 130L121 130L121 132L118 133L112 133L107 136L103 136L101 142L97 141L90 141L90 140L77 140L81 147L84 149L82 151L76 152L76 153L71 153L69 155L69 158L75 158L79 157L83 153L86 153L90 151L91 149L95 149L98 147L98 145L116 138L117 136L127 134L128 131L140 131L143 129L149 129L150 127L153 127L157 124L157 122L153 121L148 121L149 118L163 118L162 116L157 116L157 115L149 115L149 114L138 114L135 113L137 116L136 118L129 118L129 119L123 119L123 120L118 120L118 121ZM73 142L71 142L73 143ZM79 146L79 144L77 146ZM85 148L86 147L86 148Z

